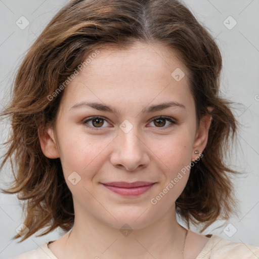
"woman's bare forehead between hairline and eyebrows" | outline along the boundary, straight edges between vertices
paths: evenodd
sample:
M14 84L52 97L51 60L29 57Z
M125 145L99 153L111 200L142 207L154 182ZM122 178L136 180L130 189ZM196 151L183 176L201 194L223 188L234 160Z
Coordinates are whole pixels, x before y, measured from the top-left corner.
M98 50L99 54L65 89L63 98L70 106L83 99L109 104L111 99L121 104L190 103L189 73L175 51L160 44L140 42L123 50L107 47Z

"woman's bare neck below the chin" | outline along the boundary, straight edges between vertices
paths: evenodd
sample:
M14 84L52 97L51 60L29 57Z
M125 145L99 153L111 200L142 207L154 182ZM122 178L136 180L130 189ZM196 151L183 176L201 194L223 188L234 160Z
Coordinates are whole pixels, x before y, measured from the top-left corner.
M80 215L80 213L75 213ZM64 258L183 258L186 230L169 209L161 219L142 229L122 230L96 218L75 217L67 234Z

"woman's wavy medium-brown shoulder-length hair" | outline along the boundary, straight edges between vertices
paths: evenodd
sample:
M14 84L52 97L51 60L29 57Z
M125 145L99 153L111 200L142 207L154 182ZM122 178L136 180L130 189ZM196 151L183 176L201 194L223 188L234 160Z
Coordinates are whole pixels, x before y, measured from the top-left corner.
M98 48L130 48L134 42L159 43L176 51L190 74L196 117L212 122L203 158L191 168L176 209L188 224L229 219L236 199L231 182L239 174L225 161L236 139L238 122L232 102L220 96L222 57L217 43L185 5L176 0L69 1L29 48L16 74L12 100L1 116L11 119L11 135L1 169L10 159L15 180L5 193L17 193L26 208L29 232L73 227L74 209L60 159L49 159L39 136L56 120L61 93L49 96ZM57 93L57 92L56 92ZM212 111L207 107L213 107ZM14 238L19 238L16 235ZM21 242L19 241L19 242Z

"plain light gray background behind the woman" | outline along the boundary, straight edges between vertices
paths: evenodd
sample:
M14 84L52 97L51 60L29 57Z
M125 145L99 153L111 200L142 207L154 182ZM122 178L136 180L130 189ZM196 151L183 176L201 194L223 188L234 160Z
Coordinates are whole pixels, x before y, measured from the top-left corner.
M22 57L42 29L67 2L67 0L0 0L1 109L8 101L11 80ZM221 48L224 65L222 94L239 103L235 114L243 124L239 137L240 145L232 150L229 162L232 168L248 173L234 181L237 199L240 201L238 217L233 216L228 222L218 221L202 234L211 233L232 242L259 246L259 1L188 0L185 3L215 37ZM29 21L29 25L23 30L16 25L21 16L25 16ZM234 25L234 20L228 18L229 16L237 22L232 29L230 26ZM0 131L2 133L0 142L3 143L7 137L8 125L1 123ZM1 148L1 155L3 153L4 150ZM5 187L4 183L9 182L11 176L10 167L6 167L1 172L0 187ZM58 239L64 234L57 229L43 237L33 235L22 243L12 240L17 227L23 223L21 208L15 195L0 194L0 258L11 258L36 249L42 243ZM183 224L180 219L179 222ZM194 226L191 229L198 231Z

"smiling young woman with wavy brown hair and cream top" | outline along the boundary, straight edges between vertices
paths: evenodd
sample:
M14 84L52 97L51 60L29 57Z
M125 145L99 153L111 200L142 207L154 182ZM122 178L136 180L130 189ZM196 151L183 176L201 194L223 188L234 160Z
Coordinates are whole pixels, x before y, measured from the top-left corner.
M221 68L178 1L64 6L18 71L2 167L14 155L5 192L27 201L21 241L46 226L67 234L14 259L257 258L258 247L189 229L236 210Z

